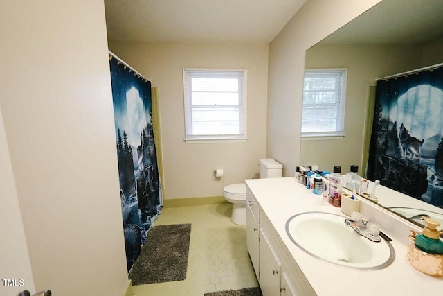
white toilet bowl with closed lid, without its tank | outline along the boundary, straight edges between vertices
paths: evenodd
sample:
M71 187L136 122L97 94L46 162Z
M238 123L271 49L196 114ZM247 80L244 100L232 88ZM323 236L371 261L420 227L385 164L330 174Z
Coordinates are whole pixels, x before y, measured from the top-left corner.
M230 220L237 225L246 225L246 184L237 183L225 186L223 196L233 204Z

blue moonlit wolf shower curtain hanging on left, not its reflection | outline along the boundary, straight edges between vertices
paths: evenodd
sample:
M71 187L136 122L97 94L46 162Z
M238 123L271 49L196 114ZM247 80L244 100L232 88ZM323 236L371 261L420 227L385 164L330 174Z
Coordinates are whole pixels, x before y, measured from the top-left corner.
M151 82L109 55L127 270L160 213L161 187L152 128Z

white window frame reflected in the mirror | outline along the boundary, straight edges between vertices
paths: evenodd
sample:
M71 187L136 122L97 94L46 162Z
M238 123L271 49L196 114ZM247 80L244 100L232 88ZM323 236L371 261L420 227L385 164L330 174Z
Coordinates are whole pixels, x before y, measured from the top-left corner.
M334 130L330 131L316 131L316 132L303 132L303 121L302 121L302 133L301 137L303 138L327 138L331 137L332 139L337 139L337 137L345 137L345 101L346 101L346 85L347 85L347 69L345 68L339 68L339 69L307 69L305 70L305 78L307 77L318 77L325 76L325 78L328 77L339 77L341 78L336 83L336 87L334 89L331 89L331 91L337 92L339 98L336 103L332 103L330 105L336 106L338 112L336 116L336 127ZM305 104L305 94L309 91L306 90L305 87L305 79L303 80L303 102L302 102L302 109L305 111L305 108L315 108L314 103L313 104ZM311 91L312 92L312 91ZM327 105L327 104L325 104ZM323 105L323 106L325 106ZM330 106L329 105L329 106Z

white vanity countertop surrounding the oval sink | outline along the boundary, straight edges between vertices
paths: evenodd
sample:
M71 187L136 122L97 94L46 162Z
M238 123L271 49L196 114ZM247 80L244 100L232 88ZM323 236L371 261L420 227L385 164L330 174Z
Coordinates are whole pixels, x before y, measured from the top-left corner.
M345 268L310 256L287 236L287 220L305 211L345 216L340 208L328 203L321 204L322 195L314 195L293 177L246 180L246 184L317 295L443 295L443 278L415 270L408 261L407 247L395 239L391 242L395 249L395 261L381 270ZM383 229L383 220L386 219L381 216L395 215L386 211L380 211L377 215L380 221L371 220L379 223L381 231L394 238L395 234Z

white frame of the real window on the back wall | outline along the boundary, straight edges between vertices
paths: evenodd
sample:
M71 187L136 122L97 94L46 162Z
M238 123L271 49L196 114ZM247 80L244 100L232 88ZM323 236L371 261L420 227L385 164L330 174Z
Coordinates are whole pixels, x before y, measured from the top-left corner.
M192 105L192 78L238 78L239 79L239 103L238 105L219 106L238 108L239 110L239 134L194 134L192 132L192 110L199 106ZM246 78L245 69L183 69L183 92L185 107L185 142L186 143L213 143L214 141L230 143L246 141ZM213 107L217 108L217 105Z

